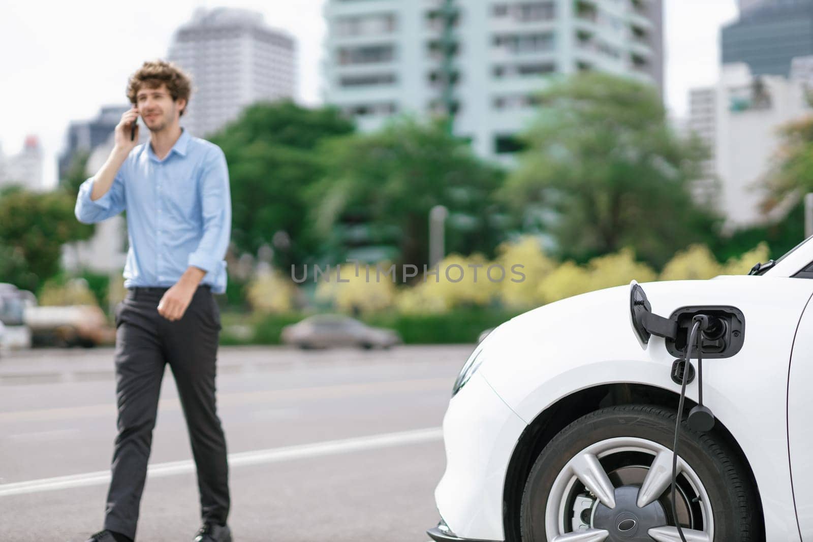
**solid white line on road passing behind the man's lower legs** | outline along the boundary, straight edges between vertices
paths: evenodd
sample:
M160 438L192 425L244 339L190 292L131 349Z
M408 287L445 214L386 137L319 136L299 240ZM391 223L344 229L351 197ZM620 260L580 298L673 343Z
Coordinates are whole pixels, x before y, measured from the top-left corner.
M395 433L382 433L379 435L359 436L343 440L326 440L313 444L298 444L281 448L255 450L253 452L229 453L228 466L260 465L303 459L306 457L320 457L336 453L360 452L363 450L402 446L405 444L419 444L441 440L443 431L441 427L429 427L415 431L400 431ZM147 467L148 478L162 478L164 476L182 475L195 471L192 461L176 461L154 463ZM86 472L80 475L58 476L27 480L25 482L0 483L0 496L24 495L28 493L41 493L59 489L86 488L88 486L107 485L110 482L109 470Z

